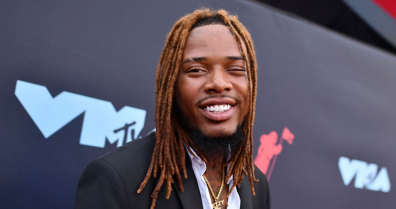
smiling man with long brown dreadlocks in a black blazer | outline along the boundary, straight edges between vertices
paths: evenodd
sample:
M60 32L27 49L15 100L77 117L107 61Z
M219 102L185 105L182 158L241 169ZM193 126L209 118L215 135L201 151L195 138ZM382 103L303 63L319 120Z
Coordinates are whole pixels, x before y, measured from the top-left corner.
M269 208L252 158L256 68L236 16L182 17L157 67L156 132L91 162L74 208Z

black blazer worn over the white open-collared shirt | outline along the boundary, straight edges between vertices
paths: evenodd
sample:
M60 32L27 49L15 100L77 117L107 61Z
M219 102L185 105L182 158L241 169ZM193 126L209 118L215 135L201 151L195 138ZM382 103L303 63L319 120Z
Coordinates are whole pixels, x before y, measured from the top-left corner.
M150 196L158 177L151 178L141 194L137 194L136 191L147 173L155 142L155 133L152 132L93 160L78 182L74 209L150 208L152 201ZM186 156L186 169L187 179L183 177L182 180L185 191L181 192L175 181L171 196L166 200L166 187L162 186L155 208L203 208L198 183L188 156ZM241 187L236 187L241 199L241 209L270 208L267 179L257 167L255 176L260 180L254 184L255 196L251 195L246 176Z

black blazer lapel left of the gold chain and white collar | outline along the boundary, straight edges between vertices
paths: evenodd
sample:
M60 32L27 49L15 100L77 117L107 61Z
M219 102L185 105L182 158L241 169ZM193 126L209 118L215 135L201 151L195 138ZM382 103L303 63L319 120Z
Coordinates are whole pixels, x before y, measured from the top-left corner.
M173 179L173 186L184 209L203 209L198 183L192 170L190 158L186 154L187 179L182 177L184 192L180 191L179 183ZM242 208L242 207L241 207Z

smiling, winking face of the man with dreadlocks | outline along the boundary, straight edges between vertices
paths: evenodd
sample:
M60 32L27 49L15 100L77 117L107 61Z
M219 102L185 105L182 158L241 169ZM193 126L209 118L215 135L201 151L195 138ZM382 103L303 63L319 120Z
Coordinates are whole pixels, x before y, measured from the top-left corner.
M242 43L247 54L245 43ZM224 25L190 31L175 84L175 98L190 128L228 136L249 110L247 69L238 41Z

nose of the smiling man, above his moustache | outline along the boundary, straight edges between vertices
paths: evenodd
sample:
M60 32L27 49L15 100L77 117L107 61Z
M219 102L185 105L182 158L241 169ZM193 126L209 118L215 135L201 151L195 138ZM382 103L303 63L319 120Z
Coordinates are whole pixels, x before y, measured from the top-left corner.
M232 90L229 75L223 68L213 69L207 76L208 80L204 86L206 92L222 93Z

